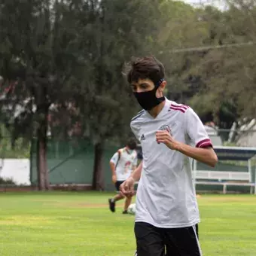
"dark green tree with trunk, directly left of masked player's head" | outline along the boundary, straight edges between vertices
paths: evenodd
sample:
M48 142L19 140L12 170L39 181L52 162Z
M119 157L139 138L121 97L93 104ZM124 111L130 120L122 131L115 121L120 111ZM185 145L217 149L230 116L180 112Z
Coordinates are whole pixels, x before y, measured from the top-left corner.
M81 11L81 37L84 49L90 53L87 53L90 75L81 74L79 78L77 107L82 126L87 127L95 145L93 189L104 188L105 142L124 139L130 131L130 118L136 113L137 105L127 96L130 88L122 76L123 64L130 56L150 52L158 5L157 1L93 1L88 16Z

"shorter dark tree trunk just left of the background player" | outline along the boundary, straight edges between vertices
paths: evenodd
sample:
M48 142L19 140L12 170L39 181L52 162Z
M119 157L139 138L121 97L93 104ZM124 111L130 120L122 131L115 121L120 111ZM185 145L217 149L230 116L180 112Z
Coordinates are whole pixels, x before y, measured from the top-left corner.
M104 190L103 173L103 151L104 143L99 142L94 146L94 166L93 166L93 190Z

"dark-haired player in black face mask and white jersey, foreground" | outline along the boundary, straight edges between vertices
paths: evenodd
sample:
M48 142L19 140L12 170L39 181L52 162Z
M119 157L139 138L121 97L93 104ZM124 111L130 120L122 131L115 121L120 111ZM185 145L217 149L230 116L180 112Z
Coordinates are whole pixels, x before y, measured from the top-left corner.
M131 62L127 74L144 110L131 121L143 160L120 186L129 197L135 181L138 256L200 256L200 215L190 158L215 166L218 158L197 114L163 97L164 68L154 57Z

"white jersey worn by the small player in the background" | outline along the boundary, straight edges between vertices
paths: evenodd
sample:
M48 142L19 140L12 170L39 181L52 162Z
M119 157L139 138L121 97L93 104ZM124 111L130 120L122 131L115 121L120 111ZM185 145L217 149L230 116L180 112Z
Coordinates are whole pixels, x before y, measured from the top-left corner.
M128 151L127 148L121 148L111 158L111 163L116 165L117 181L125 181L133 169L137 166L137 152Z

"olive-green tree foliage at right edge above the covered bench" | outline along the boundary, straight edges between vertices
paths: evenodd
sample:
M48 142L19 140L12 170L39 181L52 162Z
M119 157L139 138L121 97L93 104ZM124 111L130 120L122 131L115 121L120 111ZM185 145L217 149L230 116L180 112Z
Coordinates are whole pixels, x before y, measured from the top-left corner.
M212 15L206 9L212 29L212 42L218 45L255 41L255 4L235 1L225 12ZM215 21L214 21L215 20ZM245 29L246 28L246 29ZM209 41L209 43L212 43ZM201 114L212 109L215 121L222 129L233 123L239 127L254 118L255 45L207 50L191 74L200 76L203 87L191 101ZM250 104L248 104L250 102ZM228 133L221 134L224 139Z

